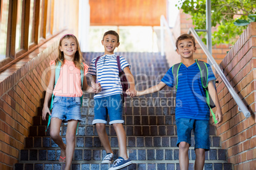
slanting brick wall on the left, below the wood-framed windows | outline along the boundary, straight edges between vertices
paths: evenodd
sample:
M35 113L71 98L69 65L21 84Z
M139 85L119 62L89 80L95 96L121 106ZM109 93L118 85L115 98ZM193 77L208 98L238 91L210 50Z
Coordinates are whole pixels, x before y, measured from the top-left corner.
M37 108L43 105L43 71L57 57L60 37L46 42L0 73L0 169L13 169ZM46 81L46 82L45 82Z

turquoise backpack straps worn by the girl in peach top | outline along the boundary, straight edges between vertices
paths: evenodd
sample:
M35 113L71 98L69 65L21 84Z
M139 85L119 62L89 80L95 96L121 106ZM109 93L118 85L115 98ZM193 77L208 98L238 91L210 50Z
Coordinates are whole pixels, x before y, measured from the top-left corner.
M58 81L59 76L60 76L60 67L61 67L61 63L58 62L58 63L57 63L57 66L56 66L56 68L55 68L55 83L54 83L53 89L55 88L55 85L57 84L57 81ZM82 67L84 67L83 62L82 62ZM81 88L83 88L83 76L84 76L84 75L83 75L83 70L81 70ZM54 100L54 95L53 95L53 93L52 93L52 101L51 101L49 110L52 110L52 107L53 107L53 100ZM81 107L82 107L82 104L83 104L83 95L80 97L80 103L81 103ZM49 117L48 117L48 124L47 124L47 128L46 128L45 131L47 131L48 126L50 125L50 122L51 122L51 115L49 115ZM78 124L79 124L79 122L78 122ZM77 129L78 129L78 124L77 124L77 127L76 127L76 132L77 132Z

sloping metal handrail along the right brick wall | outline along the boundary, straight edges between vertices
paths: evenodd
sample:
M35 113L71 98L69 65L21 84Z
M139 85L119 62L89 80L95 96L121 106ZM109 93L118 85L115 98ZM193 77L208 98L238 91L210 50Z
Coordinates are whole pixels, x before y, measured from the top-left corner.
M198 42L198 44L201 46L201 48L203 49L204 53L206 54L208 60L210 60L210 62L213 64L213 67L215 67L215 70L218 72L218 75L220 75L220 78L222 78L222 81L224 81L225 85L227 86L227 89L229 89L229 93L231 93L231 96L234 98L234 100L238 104L239 112L243 112L245 117L250 117L251 114L250 114L248 108L246 107L245 103L243 103L241 98L238 96L238 93L236 93L236 91L231 86L229 81L227 81L227 78L225 77L224 73L222 72L222 70L218 66L217 62L215 62L213 56L210 54L210 52L208 51L208 49L204 45L204 42L197 35L196 30L194 30L193 27L190 27L190 29L188 30L188 34L192 34L195 37L196 41Z

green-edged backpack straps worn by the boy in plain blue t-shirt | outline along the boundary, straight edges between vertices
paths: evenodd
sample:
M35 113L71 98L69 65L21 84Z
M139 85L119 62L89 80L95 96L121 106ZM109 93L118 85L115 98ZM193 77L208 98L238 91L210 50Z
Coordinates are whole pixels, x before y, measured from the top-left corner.
M199 67L200 74L201 74L202 86L206 93L206 103L211 110L211 108L215 107L215 104L214 104L213 100L211 99L210 93L208 91L208 67L207 67L206 63L203 61L196 60L196 63L197 63L197 66ZM173 65L173 69L172 69L173 77L174 77L174 84L176 86L176 91L178 89L178 72L180 69L180 65L181 65L181 63L176 63L175 65ZM215 85L215 84L213 84L213 85ZM211 110L211 115L213 115L213 120L214 120L215 124L217 124L217 120L215 119L215 114L213 113L213 110Z

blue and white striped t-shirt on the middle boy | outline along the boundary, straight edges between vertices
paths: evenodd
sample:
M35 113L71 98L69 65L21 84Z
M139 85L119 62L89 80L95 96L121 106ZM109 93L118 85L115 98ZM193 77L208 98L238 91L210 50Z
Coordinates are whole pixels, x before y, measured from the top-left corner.
M122 85L119 77L117 56L116 55L103 55L97 61L97 72L95 68L96 58L90 63L88 74L96 75L97 82L101 84L101 92L94 95L94 98L102 98L105 96L122 94ZM131 68L131 65L120 56L121 69L125 67Z

